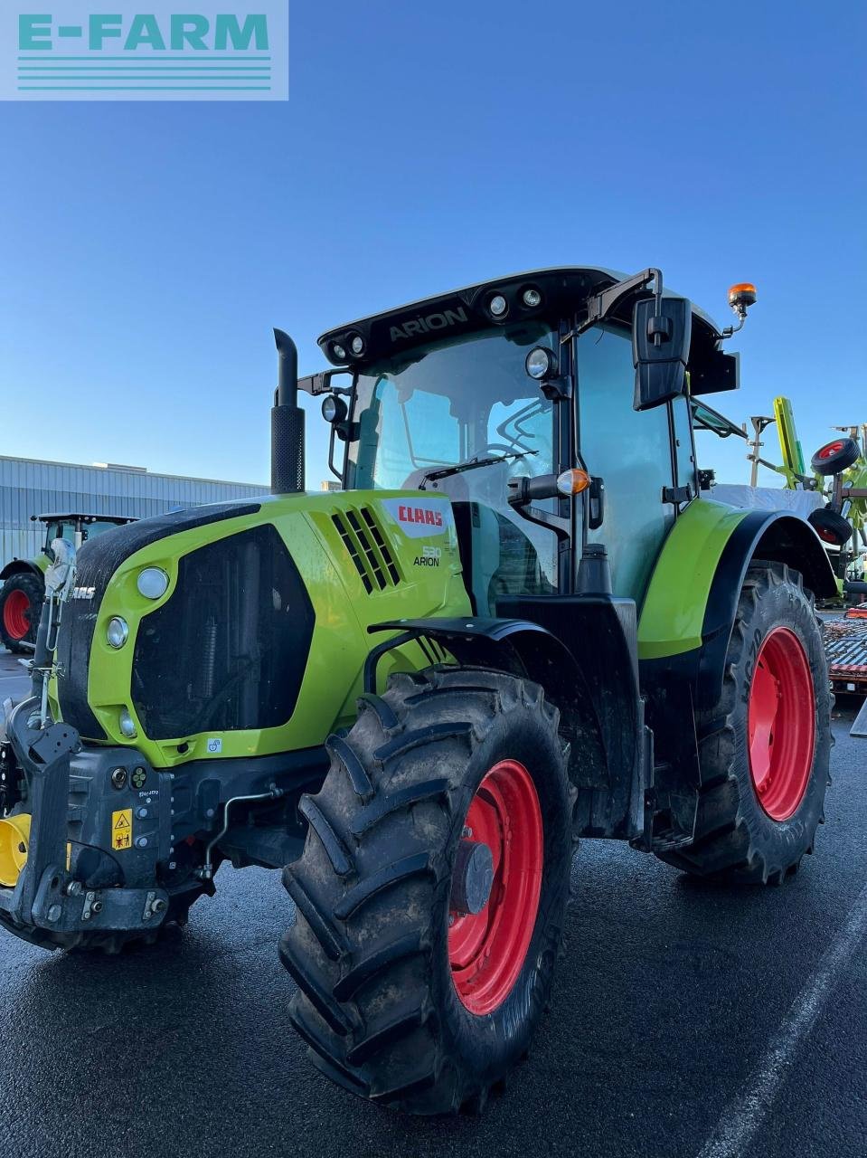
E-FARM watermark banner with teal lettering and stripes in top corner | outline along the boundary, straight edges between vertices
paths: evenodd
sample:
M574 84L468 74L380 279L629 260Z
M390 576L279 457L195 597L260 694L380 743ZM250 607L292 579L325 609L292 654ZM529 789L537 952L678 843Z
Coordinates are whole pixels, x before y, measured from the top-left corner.
M288 0L2 0L0 100L286 101Z

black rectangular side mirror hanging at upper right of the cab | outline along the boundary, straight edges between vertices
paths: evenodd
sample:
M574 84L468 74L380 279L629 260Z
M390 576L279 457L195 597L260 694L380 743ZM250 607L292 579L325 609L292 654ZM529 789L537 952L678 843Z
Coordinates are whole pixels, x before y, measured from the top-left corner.
M635 410L660 406L686 393L692 306L686 298L648 298L632 315Z

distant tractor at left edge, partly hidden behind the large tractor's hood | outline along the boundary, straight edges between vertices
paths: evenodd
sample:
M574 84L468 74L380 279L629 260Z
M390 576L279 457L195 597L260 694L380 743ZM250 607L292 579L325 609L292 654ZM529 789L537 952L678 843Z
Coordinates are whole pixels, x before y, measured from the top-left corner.
M53 540L65 538L78 550L109 527L135 521L110 514L31 514L30 519L45 525L41 554L35 559L12 559L0 571L0 644L10 652L32 651L36 644Z

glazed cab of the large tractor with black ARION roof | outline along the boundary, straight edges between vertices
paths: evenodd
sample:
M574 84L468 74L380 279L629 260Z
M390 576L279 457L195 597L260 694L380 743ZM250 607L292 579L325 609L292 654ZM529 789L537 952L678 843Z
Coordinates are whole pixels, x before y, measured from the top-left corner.
M536 271L319 339L340 368L300 384L325 393L323 413L345 447L341 467L332 454L335 474L352 490L447 494L477 614L497 615L512 596L574 592L593 542L605 544L613 593L640 601L678 511L698 493L689 384L734 389L737 361L719 351L710 318L661 285L652 295L652 281L649 270L625 281L605 270ZM666 337L648 358L633 331L644 336L654 317ZM335 386L340 372L348 389Z

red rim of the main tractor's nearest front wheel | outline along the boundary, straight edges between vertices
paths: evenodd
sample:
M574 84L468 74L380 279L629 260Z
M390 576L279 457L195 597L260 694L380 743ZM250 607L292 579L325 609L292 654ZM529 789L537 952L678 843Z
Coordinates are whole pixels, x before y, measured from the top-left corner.
M544 843L536 786L523 764L501 760L478 786L464 836L486 844L494 879L477 914L449 913L451 980L476 1014L501 1005L517 981L536 926Z

